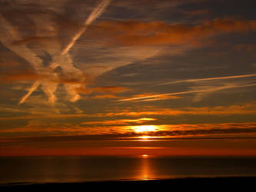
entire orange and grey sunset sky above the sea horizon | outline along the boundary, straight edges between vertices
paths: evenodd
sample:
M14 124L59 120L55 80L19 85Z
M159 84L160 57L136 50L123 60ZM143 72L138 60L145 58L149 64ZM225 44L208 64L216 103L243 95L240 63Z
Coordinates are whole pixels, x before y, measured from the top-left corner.
M0 156L255 156L255 5L1 0Z

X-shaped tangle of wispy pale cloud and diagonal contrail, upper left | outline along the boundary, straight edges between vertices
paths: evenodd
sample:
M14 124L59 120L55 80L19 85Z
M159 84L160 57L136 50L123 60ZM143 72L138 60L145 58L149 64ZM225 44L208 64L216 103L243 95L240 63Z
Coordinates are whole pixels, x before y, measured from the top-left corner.
M44 78L43 80L35 81L35 83L32 84L32 87L28 89L28 93L25 94L25 96L22 97L22 99L19 101L19 104L24 103L25 100L39 87L39 85L42 85L41 88L48 96L48 101L54 104L57 99L55 96L55 91L58 87L58 82L54 83L53 81L58 81L58 74L55 73L55 69L58 67L61 67L63 73L65 74L75 75L76 77L83 78L84 74L81 70L75 68L75 65L72 64L72 58L70 55L68 55L68 51L73 45L75 45L75 41L77 41L77 39L85 32L87 26L90 25L91 22L95 21L95 19L105 11L105 8L110 2L110 0L103 0L98 4L96 8L94 8L94 10L91 12L91 15L89 15L86 19L85 25L80 28L80 30L71 39L71 42L68 43L68 45L66 45L63 50L59 44L56 44L55 48L49 48L45 50L48 51L48 53L52 56L52 63L50 63L50 65L48 65L46 68L43 65L42 59L39 58L31 48L28 48L25 41L22 41L22 38L19 35L19 31L17 31L16 28L1 15L0 19L4 24L2 27L4 30L2 31L5 33L4 35L1 35L2 43L7 48L10 48L16 54L28 61L28 63L32 64L32 67L37 74L42 74L43 76L48 77ZM38 38L36 39L38 40ZM81 87L81 83L64 85L66 91L71 96L70 101L77 101L80 96L75 90L78 87Z

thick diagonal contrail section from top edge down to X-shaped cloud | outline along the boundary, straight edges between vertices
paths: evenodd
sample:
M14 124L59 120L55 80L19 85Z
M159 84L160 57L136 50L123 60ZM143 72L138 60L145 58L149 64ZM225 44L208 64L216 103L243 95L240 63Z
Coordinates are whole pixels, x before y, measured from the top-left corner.
M71 49L71 47L75 44L75 41L77 41L78 38L80 38L80 36L86 31L87 26L90 25L91 22L94 22L95 19L98 18L105 11L105 8L109 5L110 2L111 0L103 0L101 3L98 4L93 12L91 12L91 15L89 15L89 17L86 19L80 31L78 31L74 38L72 38L71 42L62 51L62 55L65 55Z

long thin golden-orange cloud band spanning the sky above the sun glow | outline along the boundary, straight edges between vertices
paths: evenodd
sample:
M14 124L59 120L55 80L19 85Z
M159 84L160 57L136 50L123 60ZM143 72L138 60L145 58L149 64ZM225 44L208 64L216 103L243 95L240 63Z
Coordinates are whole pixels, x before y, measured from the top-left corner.
M42 114L36 113L29 116L3 117L1 121L29 120L29 119L68 119L68 118L111 118L111 117L141 117L141 116L177 116L177 115L252 115L256 114L256 104L200 107L200 108L142 108L135 111L133 108L126 110L113 110L111 112L95 114Z

